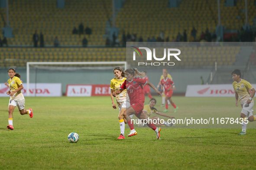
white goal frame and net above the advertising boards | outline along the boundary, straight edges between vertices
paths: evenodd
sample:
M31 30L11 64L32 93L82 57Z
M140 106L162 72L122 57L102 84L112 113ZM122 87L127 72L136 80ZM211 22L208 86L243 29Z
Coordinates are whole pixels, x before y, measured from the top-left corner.
M68 84L110 84L113 68L126 69L125 61L113 62L27 62L27 91L29 83L61 83L62 94ZM29 96L29 93L27 94Z

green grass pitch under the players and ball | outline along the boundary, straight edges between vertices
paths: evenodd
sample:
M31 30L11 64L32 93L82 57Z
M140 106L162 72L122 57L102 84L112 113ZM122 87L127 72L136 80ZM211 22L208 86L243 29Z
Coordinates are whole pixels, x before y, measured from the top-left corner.
M162 99L157 97L156 108ZM256 129L237 135L237 129L162 129L156 140L152 129L136 129L138 135L118 140L118 110L110 97L26 98L26 109L34 117L13 113L8 125L9 98L0 98L0 169L255 169ZM240 116L235 98L173 97L179 107L167 114L213 112ZM149 99L146 97L145 104ZM256 110L254 106L254 110ZM256 114L256 113L254 113ZM256 122L250 122L256 124ZM250 126L252 127L252 126ZM254 126L255 127L255 126ZM136 128L136 126L135 126ZM77 132L79 141L68 142L68 134Z

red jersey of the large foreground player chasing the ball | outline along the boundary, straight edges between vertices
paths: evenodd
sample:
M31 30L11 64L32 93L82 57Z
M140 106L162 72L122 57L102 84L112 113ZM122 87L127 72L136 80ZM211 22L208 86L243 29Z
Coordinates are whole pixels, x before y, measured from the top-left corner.
M120 89L127 89L131 105L135 103L144 103L145 96L143 85L145 85L146 82L147 81L145 79L134 78L131 82L125 80L123 85L121 85Z

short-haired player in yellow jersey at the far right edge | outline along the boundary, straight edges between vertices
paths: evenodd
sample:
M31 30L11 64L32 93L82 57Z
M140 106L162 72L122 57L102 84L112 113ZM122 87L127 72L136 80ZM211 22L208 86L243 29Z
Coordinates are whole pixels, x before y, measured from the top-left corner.
M250 84L250 82L241 79L241 71L239 69L233 70L231 74L234 80L233 88L235 90L236 106L238 106L239 98L242 107L240 116L241 118L243 118L242 132L240 132L238 135L245 135L248 120L250 122L256 120L256 115L253 116L253 96L255 94L255 89ZM250 91L252 91L252 93L250 93Z

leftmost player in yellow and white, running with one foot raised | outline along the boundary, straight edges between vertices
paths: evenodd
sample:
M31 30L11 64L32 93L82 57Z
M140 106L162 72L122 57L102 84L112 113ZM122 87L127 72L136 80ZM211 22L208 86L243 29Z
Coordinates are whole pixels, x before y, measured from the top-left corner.
M21 115L29 114L29 116L32 118L33 112L32 112L32 109L29 109L29 110L24 109L25 98L21 92L21 90L23 89L23 85L19 79L20 75L16 73L15 69L13 68L10 68L8 70L8 75L10 77L10 79L8 80L10 90L7 91L6 94L10 95L10 101L9 101L9 107L8 107L9 125L7 126L7 129L13 130L13 110L15 109L16 106L18 107L19 113Z

